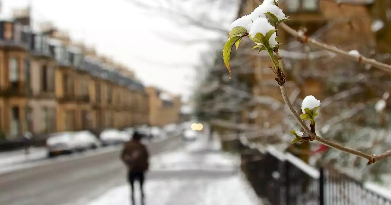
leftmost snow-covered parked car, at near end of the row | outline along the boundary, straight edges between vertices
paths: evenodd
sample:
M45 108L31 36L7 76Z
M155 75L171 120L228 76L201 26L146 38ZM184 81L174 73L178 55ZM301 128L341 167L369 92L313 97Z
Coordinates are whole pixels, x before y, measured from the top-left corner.
M50 134L46 140L48 157L75 152L75 143L72 132L59 132Z

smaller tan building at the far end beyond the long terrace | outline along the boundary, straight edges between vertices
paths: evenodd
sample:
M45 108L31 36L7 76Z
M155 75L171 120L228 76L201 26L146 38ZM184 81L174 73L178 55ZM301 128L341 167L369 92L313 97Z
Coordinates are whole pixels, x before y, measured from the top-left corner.
M164 126L178 123L181 96L174 96L156 87L147 87L149 94L149 123L151 126Z

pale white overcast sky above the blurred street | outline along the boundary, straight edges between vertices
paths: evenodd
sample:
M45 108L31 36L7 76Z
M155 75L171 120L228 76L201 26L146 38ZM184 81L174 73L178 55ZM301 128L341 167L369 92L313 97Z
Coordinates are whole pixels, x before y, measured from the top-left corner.
M146 86L187 97L194 84L199 53L210 50L210 46L168 41L161 36L178 33L191 39L196 30L178 25L165 14L148 13L128 1L132 0L30 0L30 4L34 23L52 21L59 29L67 30L72 39L94 45L99 53L134 70ZM1 16L11 16L13 8L27 4L28 0L2 0ZM192 9L189 7L188 12ZM230 21L222 24L229 25ZM216 34L209 32L206 36Z

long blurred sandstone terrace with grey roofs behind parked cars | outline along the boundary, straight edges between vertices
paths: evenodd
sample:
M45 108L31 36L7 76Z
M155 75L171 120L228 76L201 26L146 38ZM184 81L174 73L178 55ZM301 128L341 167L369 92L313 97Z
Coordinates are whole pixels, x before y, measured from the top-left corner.
M149 124L149 96L133 71L51 23L32 31L29 9L0 21L0 62L0 130L7 139Z

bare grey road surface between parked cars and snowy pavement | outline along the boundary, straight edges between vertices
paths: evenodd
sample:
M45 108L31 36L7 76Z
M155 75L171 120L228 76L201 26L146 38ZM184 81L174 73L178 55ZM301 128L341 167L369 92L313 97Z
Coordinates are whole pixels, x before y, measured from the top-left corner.
M180 137L148 143L151 155L178 148ZM124 184L126 169L119 150L54 161L0 175L1 205L64 205L93 199Z

